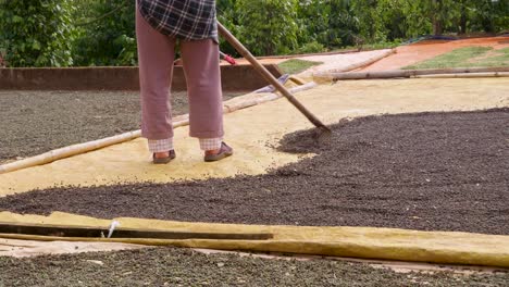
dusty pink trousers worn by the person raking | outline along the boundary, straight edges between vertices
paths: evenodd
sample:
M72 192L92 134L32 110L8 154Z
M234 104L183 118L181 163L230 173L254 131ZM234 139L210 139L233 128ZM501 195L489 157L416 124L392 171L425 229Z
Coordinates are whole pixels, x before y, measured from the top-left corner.
M176 39L153 29L136 12L141 135L150 140L173 138L171 83ZM189 136L223 137L223 104L219 47L212 39L179 41L189 98Z

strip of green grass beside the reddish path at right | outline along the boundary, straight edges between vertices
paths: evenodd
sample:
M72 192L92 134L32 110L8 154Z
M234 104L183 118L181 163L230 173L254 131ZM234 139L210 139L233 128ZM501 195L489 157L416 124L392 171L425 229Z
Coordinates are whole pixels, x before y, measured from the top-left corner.
M465 47L440 54L404 70L446 67L493 67L509 66L509 48L493 50L491 47Z

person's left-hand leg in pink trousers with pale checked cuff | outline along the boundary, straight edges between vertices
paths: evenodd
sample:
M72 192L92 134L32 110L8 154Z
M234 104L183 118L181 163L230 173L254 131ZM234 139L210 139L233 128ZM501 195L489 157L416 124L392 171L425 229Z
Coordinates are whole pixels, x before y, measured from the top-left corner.
M173 150L170 87L175 58L175 39L153 29L136 10L141 135L154 158L167 158Z

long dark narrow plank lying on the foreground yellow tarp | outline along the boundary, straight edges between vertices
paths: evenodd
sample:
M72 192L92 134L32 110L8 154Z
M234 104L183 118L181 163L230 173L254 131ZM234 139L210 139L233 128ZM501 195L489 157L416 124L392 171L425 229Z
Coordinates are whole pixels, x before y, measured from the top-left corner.
M107 237L109 234L109 229L90 226L65 226L0 222L0 234L100 238ZM273 238L273 235L268 233L193 233L167 232L158 229L115 228L112 233L111 238L266 240Z

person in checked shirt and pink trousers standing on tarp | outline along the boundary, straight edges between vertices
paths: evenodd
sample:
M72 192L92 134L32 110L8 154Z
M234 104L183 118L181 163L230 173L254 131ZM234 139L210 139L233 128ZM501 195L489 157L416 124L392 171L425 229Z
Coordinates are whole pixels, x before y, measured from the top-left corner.
M233 154L224 141L215 0L137 0L141 136L156 164L175 158L171 82L179 46L189 98L189 136L204 161Z

